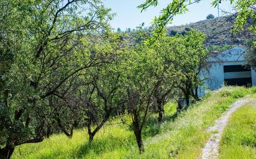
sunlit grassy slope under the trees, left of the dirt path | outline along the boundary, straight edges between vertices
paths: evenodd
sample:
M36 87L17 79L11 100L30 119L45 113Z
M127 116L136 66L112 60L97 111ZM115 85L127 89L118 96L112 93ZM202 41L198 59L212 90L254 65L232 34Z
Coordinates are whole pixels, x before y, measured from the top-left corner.
M72 139L63 134L52 135L39 144L17 147L14 158L196 158L209 138L204 130L237 98L255 93L256 88L226 87L209 93L204 99L180 114L174 121L165 117L157 124L156 116L149 119L143 132L145 153L139 155L133 132L119 119L101 129L93 144L88 144L86 130L77 130ZM168 106L169 113L173 111Z

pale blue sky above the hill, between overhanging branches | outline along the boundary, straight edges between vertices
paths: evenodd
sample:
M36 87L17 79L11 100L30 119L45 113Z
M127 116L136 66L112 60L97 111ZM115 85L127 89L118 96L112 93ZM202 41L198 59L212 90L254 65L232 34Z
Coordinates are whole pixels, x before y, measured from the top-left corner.
M126 28L135 28L136 26L145 23L145 26L149 26L153 17L160 14L160 11L167 6L171 0L160 0L159 6L150 7L144 12L140 12L137 8L139 4L142 4L145 0L105 0L106 7L112 9L112 12L116 13L116 16L111 22L114 29L118 27L121 30ZM211 6L213 0L202 0L198 4L192 4L188 7L189 11L184 15L178 15L173 20L171 25L190 24L191 22L198 22L199 20L206 19L208 14L213 14L217 17L217 8ZM232 11L232 6L229 2L222 1L219 5L220 14L221 9L223 11Z

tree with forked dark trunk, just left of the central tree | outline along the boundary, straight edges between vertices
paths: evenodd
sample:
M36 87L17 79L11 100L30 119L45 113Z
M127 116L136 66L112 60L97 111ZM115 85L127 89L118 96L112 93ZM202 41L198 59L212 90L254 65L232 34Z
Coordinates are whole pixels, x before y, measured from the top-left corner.
M85 113L84 121L88 128L89 142L93 141L94 135L104 126L111 114L117 110L121 89L121 77L123 75L121 64L124 62L124 54L129 50L127 40L122 34L111 34L106 39L98 39L93 43L93 49L101 54L101 58L107 62L92 67L79 91L81 111ZM94 127L94 129L93 129Z

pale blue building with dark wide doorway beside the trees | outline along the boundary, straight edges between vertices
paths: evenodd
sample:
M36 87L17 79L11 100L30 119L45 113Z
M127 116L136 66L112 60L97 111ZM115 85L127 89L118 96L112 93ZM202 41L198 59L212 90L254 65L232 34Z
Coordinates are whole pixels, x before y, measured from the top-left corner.
M223 85L256 85L256 72L246 66L244 54L245 49L236 46L209 59L211 66L203 73L206 80L199 91L200 95L206 89L216 90Z

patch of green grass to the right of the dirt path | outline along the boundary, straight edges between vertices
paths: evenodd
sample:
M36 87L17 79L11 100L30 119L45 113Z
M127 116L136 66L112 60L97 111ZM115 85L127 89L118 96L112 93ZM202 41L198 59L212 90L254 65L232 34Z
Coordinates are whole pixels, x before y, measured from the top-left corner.
M229 119L221 140L221 159L256 158L256 107L245 105Z

